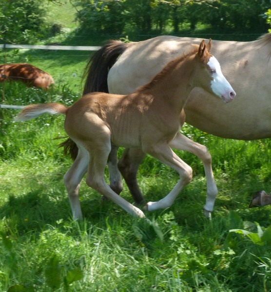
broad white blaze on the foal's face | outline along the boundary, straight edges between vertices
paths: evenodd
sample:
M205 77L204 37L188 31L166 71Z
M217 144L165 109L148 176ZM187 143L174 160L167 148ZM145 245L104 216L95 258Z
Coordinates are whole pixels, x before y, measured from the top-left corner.
M207 63L211 69L213 80L211 81L211 88L213 93L218 95L225 102L230 102L236 95L232 86L221 72L220 64L217 59L212 56Z

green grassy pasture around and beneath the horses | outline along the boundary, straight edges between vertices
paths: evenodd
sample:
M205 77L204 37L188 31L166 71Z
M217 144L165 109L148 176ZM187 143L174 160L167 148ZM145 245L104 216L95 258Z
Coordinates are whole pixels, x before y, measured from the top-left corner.
M70 11L68 1L65 5ZM74 29L71 18L61 14L59 19ZM88 41L86 45L101 44ZM6 104L69 106L79 98L88 52L6 54L8 62L30 62L56 81L55 89L46 92L1 84ZM0 111L0 292L271 291L271 206L248 208L256 191L271 191L270 139L226 140L189 125L182 128L213 157L219 194L212 220L202 211L206 180L201 162L177 151L192 166L193 181L171 208L145 212L152 224L132 218L113 202L102 202L84 181L84 219L78 222L71 217L63 183L72 162L58 148L63 140L54 139L65 136L63 117L15 123L17 113ZM163 198L177 180L174 170L149 156L138 172L146 201ZM121 196L132 202L125 184Z

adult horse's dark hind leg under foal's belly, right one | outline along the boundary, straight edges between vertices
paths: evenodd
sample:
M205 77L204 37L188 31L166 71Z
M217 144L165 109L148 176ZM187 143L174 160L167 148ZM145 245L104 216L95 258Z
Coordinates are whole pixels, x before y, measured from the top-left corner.
M117 164L137 205L144 202L143 195L136 180L136 173L145 155L146 153L140 148L126 148Z

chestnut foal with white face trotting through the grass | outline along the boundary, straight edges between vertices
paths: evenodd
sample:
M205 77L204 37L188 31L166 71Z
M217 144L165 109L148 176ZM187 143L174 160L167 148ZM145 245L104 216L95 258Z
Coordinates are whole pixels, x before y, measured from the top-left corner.
M211 41L206 45L204 40L200 46L194 45L191 53L169 62L150 83L129 95L94 92L84 95L70 108L49 103L30 105L20 112L17 121L29 120L45 112L66 115L64 128L78 147L76 160L64 176L75 219L82 218L78 191L86 172L86 183L90 187L128 213L145 217L139 208L118 196L104 180L108 157L112 155L112 148L118 146L140 148L179 173L180 180L165 198L146 204L145 209L150 211L171 206L192 180L192 168L171 147L192 152L200 148L205 154L203 163L210 183L204 209L207 214L213 211L217 188L211 156L206 155L204 146L179 133L185 119L183 107L195 87L203 88L213 98L218 96L226 103L235 96L218 61L210 54L210 47Z

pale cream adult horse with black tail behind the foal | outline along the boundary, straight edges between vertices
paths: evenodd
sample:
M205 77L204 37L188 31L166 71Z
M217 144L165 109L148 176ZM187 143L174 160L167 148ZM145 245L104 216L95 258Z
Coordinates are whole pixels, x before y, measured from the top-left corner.
M171 36L132 43L111 41L90 59L84 93L129 94L149 82L170 60L193 50L193 44L198 42L198 38ZM231 104L221 105L210 93L194 88L184 108L186 122L223 138L270 138L271 34L251 42L214 40L212 52L238 98ZM108 68L111 68L109 72ZM136 183L136 171L144 156L140 149L126 149L119 162L136 202L143 200ZM114 177L112 184L121 189L116 161L109 165Z

